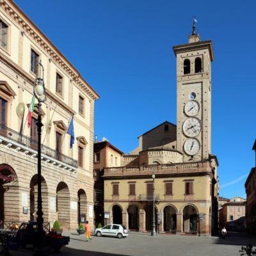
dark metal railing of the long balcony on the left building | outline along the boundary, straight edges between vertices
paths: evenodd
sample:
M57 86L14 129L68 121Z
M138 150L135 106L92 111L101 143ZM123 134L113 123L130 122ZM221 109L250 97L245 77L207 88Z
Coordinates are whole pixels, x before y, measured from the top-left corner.
M0 136L4 136L9 140L13 140L21 145L32 148L33 150L37 151L38 149L37 140L33 140L23 134L20 134L19 132L8 128L4 124L0 124ZM73 166L74 168L77 168L77 160L74 160L71 157L65 156L64 154L61 154L60 152L53 150L52 148L49 148L42 144L41 144L41 150L42 150L42 154L45 154L46 156L52 157L58 161L61 161L65 164Z

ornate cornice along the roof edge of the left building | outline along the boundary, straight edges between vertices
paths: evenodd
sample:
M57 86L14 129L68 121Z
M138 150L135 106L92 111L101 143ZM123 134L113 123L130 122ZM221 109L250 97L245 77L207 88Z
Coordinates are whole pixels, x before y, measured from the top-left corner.
M57 49L57 47L52 44L52 42L47 38L47 36L38 29L35 24L29 19L29 17L20 10L19 6L10 0L0 0L0 8L8 14L20 28L26 32L26 35L30 36L39 48L49 54L49 58L56 61L63 70L67 72L72 79L82 90L89 95L93 100L99 99L99 94L93 90L93 88L88 84L81 74L76 70L76 68L67 60L67 58Z

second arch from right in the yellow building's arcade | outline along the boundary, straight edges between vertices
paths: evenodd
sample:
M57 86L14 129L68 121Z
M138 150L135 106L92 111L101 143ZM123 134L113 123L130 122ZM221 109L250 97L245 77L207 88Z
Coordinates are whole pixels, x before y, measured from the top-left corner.
M177 209L172 204L167 204L163 209L164 223L163 229L165 232L175 233L177 228Z

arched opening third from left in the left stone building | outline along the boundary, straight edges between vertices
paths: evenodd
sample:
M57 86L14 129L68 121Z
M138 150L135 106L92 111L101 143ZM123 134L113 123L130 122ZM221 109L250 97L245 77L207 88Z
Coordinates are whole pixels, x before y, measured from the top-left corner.
M56 212L61 227L64 230L70 229L70 192L63 181L56 188Z

